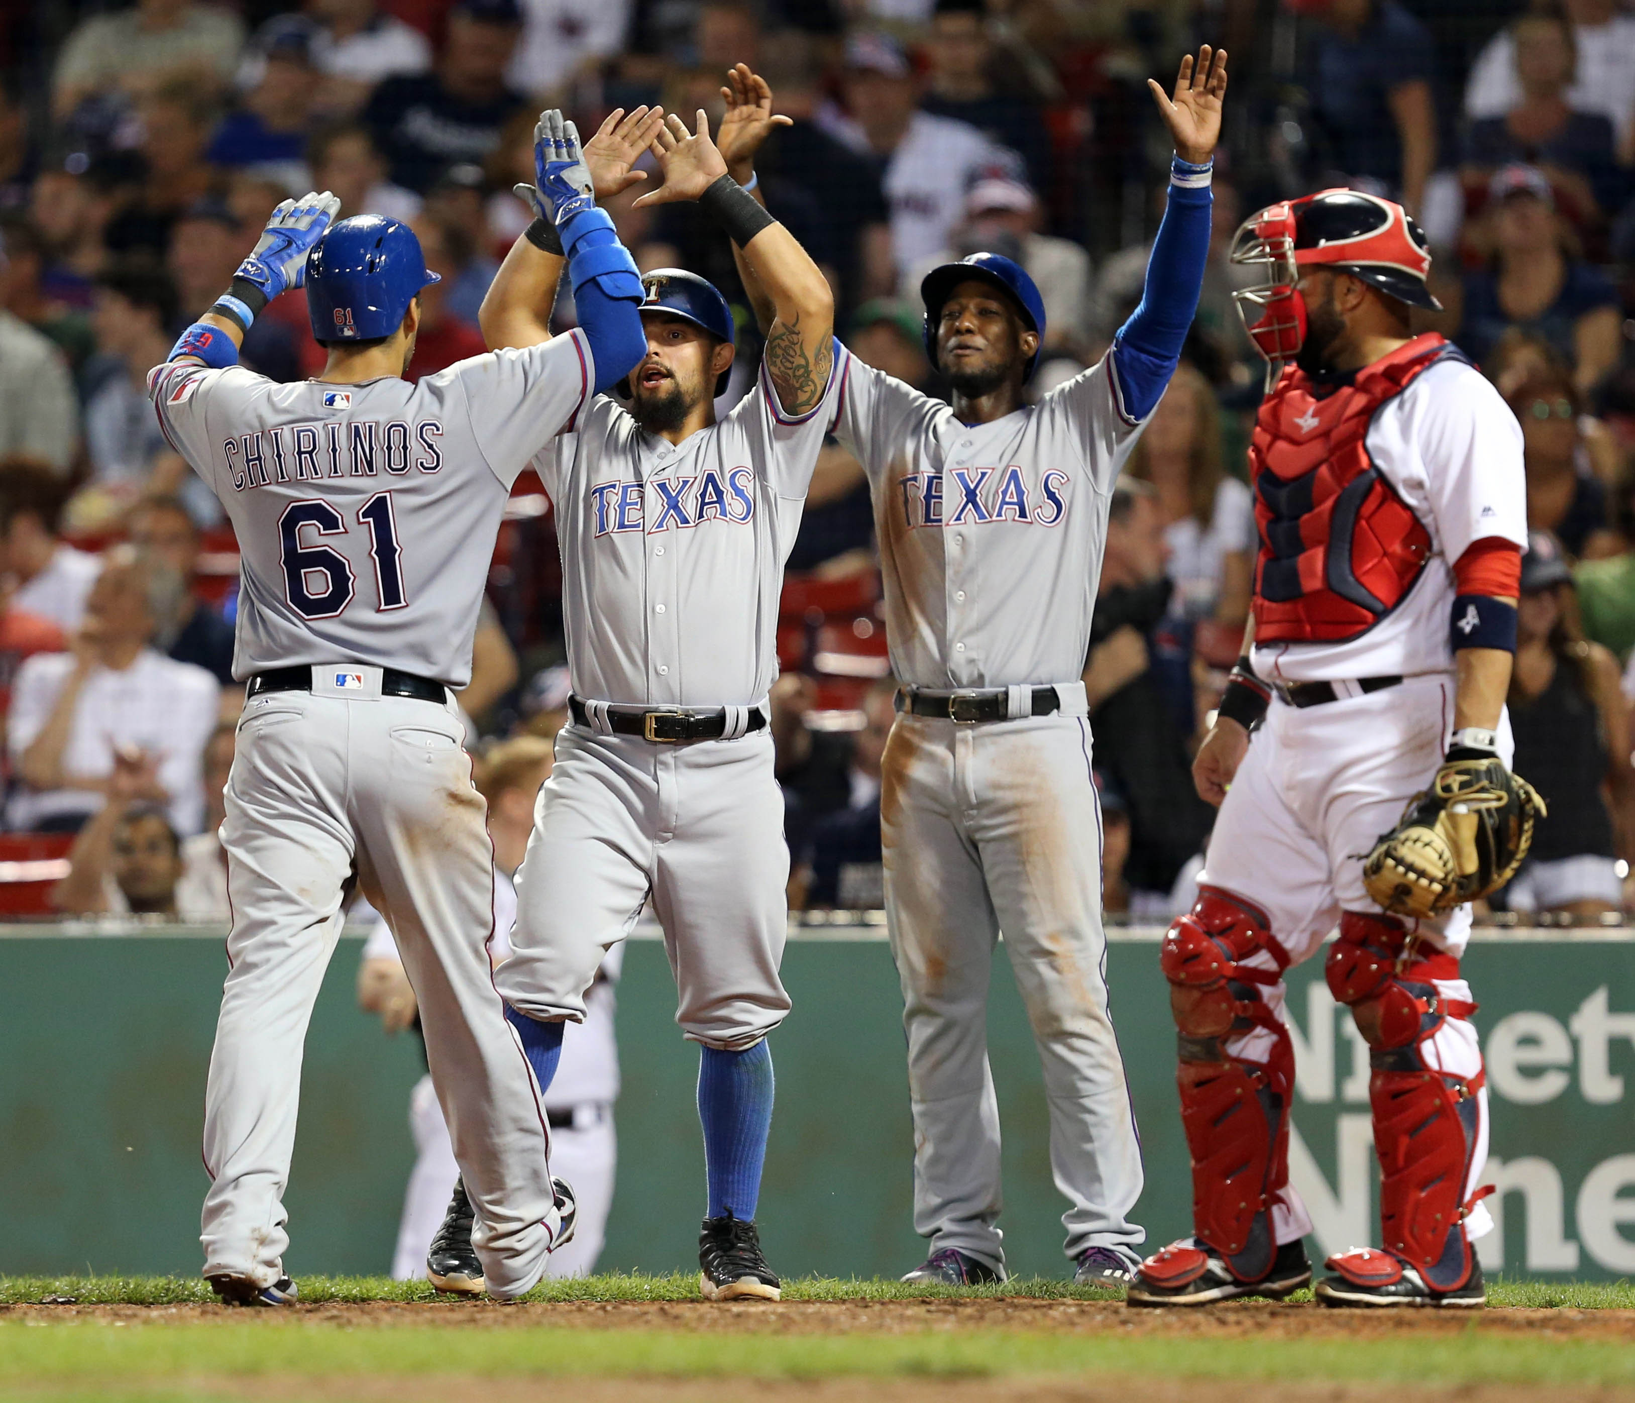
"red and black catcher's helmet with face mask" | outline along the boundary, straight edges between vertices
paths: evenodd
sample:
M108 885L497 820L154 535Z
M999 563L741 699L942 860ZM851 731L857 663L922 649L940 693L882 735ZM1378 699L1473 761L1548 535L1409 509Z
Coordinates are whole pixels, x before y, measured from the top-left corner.
M1319 190L1251 214L1233 237L1231 262L1264 273L1234 291L1233 301L1274 373L1306 338L1298 288L1306 268L1351 273L1409 306L1442 311L1426 286L1431 249L1424 232L1401 204L1360 190Z

